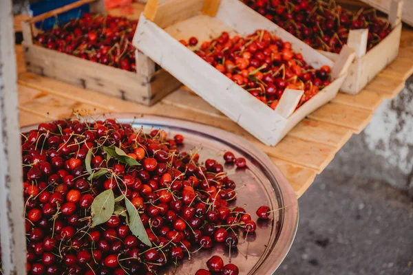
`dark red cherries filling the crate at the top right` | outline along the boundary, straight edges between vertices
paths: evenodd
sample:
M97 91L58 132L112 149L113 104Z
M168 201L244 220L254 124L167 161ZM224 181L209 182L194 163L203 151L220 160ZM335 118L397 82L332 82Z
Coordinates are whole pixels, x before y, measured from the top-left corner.
M389 21L378 17L376 10L352 12L335 0L241 1L311 47L326 52L339 53L350 30L369 30L367 50L392 31Z

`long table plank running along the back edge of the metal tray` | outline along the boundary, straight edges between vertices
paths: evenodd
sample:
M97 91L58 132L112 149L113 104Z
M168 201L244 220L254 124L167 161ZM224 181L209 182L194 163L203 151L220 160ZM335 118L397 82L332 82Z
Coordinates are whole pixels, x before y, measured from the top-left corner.
M272 155L273 157L286 159L289 162L293 162L300 166L307 166L317 170L317 172L321 172L321 170L326 167L328 162L330 162L338 150L337 147L320 144L318 142L308 142L297 137L286 137L284 140L279 142L276 147L265 146L261 142L255 140L254 137L244 131L244 129L238 126L235 122L225 117L211 116L207 113L197 113L188 108L184 109L171 104L165 104L163 102L160 102L160 104L156 104L153 107L145 107L133 102L125 102L116 98L102 96L94 91L87 91L87 93L85 93L85 90L79 89L78 87L74 87L66 83L59 83L56 80L44 78L35 74L22 74L19 79L19 83L21 85L30 86L32 88L54 94L55 96L65 97L67 100L85 102L86 104L91 104L106 111L131 111L138 113L167 115L173 118L189 119L194 122L217 126L250 140L257 146L260 146L264 152ZM47 102L44 102L44 104L47 106ZM43 110L44 109L45 107L43 106ZM295 153L290 152L285 154L295 146L298 146L300 150Z

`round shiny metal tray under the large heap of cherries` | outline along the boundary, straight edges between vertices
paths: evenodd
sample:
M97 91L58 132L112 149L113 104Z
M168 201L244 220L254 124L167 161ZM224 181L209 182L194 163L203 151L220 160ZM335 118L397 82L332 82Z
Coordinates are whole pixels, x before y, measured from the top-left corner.
M116 118L136 128L163 129L169 135L180 133L184 135L184 146L180 150L200 149L198 153L202 163L205 159L213 158L224 165L222 155L226 151L232 151L236 157L245 157L247 168L224 165L229 178L235 181L238 188L237 200L233 205L244 207L253 221L257 221L255 211L262 205L271 209L286 207L273 212L272 218L267 221L257 221L254 234L246 235L240 230L238 247L231 250L231 263L239 267L240 274L264 275L277 270L297 232L298 203L290 184L265 153L242 137L186 120L134 113L108 114L104 118ZM34 128L34 125L27 126L22 131ZM213 255L220 255L225 264L229 263L229 249L218 244L210 250L192 254L191 261L182 261L175 274L193 275L200 268L206 269L206 261ZM165 272L172 274L173 266Z

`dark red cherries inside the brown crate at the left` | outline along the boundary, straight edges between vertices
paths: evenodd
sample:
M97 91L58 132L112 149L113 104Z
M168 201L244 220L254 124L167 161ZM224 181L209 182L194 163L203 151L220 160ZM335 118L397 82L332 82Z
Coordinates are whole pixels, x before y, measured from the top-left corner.
M136 72L135 51L131 41L137 21L125 17L83 13L64 25L41 32L34 43L92 62Z

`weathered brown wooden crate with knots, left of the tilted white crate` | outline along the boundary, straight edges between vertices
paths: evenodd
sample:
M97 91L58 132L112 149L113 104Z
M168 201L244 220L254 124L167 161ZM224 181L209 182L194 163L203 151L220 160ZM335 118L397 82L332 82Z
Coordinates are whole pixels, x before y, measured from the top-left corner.
M136 73L87 61L34 45L34 23L89 3L91 12L105 12L103 1L81 0L22 22L23 53L30 72L63 80L109 96L151 105L180 86L180 82L136 50Z

